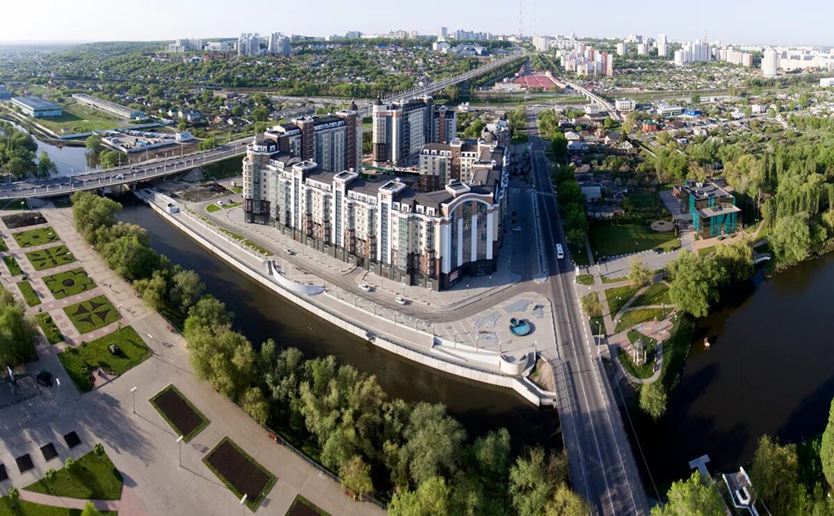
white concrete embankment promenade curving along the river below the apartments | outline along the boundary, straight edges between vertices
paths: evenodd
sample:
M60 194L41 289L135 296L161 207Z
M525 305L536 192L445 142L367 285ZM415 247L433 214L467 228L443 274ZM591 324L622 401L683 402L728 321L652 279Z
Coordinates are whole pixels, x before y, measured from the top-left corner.
M179 210L178 213L169 213L168 205L176 204L173 199L150 190L140 191L137 196L148 203L148 206L169 223L172 223L204 248L222 258L224 262L237 268L239 272L304 308L309 313L324 318L359 338L368 340L374 346L444 373L498 387L510 388L535 406L553 403L552 399L555 397L555 393L542 391L528 378L503 374L499 371L488 370L463 362L455 363L448 358L448 355L443 357L431 353L435 345L442 344L443 341L436 335L417 328L410 328L405 323L377 318L373 313L368 313L363 308L345 303L342 299L333 298L328 293L319 294L319 296L326 296L324 298L299 295L294 289L290 289L286 284L283 284L285 282L279 283L274 278L270 278L271 274L267 271L271 272L272 269L269 268L269 262L263 255L244 246L229 246L228 238L222 238L206 223L198 218L193 218L189 213L184 213L183 210ZM409 339L410 342L406 339ZM421 346L415 341L426 342L430 345L428 347L425 347L425 344ZM452 343L445 344L450 346ZM470 350L470 353L477 353L477 350Z

